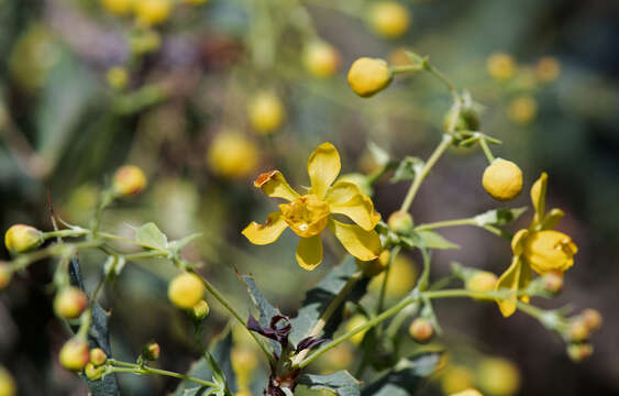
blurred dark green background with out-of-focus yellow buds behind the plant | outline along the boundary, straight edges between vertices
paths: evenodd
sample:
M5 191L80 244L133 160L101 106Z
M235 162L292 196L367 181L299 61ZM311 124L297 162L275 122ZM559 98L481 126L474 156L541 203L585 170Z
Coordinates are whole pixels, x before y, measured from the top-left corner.
M110 209L104 229L131 235L129 226L155 221L172 239L202 232L185 254L203 262L200 272L242 310L248 304L234 268L294 315L342 252L328 249L308 273L295 263L290 232L251 245L240 231L274 208L252 180L278 168L294 187L307 185L307 158L324 141L340 150L345 174L376 169L369 141L395 158L425 158L450 107L444 87L425 74L402 75L362 99L345 78L360 56L402 65L402 48L412 48L485 106L482 130L504 142L495 155L524 172L527 194L510 207L530 206L531 184L550 175L548 206L566 212L559 229L579 251L563 294L539 304L594 307L605 319L593 358L575 364L530 317L436 301L441 342L453 348L422 394L475 384L486 395L619 395L617 21L612 0L0 0L0 229L51 230L47 197L62 218L87 226L99 189L134 164L150 186ZM486 164L477 148L450 150L412 206L416 223L499 207L482 188ZM378 180L384 219L407 188ZM434 255L434 278L453 260L497 274L509 264L509 244L484 230L443 234L463 248ZM0 258L9 260L4 246ZM91 290L104 256L80 258ZM56 361L67 332L51 308L53 271L53 262L32 265L0 295L0 362L20 394L86 395ZM404 256L396 271L391 300L412 287L416 257ZM185 372L199 356L187 318L166 298L174 274L167 263L143 262L108 288L102 306L113 311L119 359L135 359L151 340L162 345L161 367ZM212 336L228 316L211 307ZM255 363L242 352L237 360ZM354 365L351 343L316 370ZM162 377L119 381L129 395L176 387Z

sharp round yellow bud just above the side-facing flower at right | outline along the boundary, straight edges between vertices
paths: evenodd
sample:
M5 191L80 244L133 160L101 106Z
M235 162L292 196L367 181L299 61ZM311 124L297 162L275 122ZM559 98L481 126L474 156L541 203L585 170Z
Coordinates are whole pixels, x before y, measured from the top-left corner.
M522 191L522 170L511 161L496 158L484 170L482 184L493 198L507 201Z

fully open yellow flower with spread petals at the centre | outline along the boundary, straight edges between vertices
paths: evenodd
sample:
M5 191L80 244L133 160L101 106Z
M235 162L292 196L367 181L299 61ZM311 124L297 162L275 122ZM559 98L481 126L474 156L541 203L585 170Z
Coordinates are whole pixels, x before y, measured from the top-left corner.
M322 262L320 233L325 228L356 258L376 258L382 245L374 227L380 216L374 211L372 199L362 194L356 185L349 182L333 184L340 167L338 150L331 143L322 143L308 161L311 184L308 194L301 196L295 191L279 170L259 175L254 186L268 197L283 198L288 204L279 205L279 210L269 213L264 224L253 221L243 230L243 235L254 244L269 244L289 227L301 237L297 246L297 262L308 271ZM332 215L344 215L356 224L338 221Z

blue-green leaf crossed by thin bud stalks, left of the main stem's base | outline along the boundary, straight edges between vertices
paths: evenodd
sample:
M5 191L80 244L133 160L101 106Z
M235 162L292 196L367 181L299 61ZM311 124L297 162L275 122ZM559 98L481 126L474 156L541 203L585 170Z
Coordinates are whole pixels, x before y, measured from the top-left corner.
M223 372L228 387L233 394L236 393L236 376L232 370L231 359L232 332L226 330L223 336L215 338L211 342L209 351ZM205 358L202 358L191 364L187 375L205 381L213 381L215 373L213 373L209 363L205 360ZM200 386L199 384L190 381L184 381L178 385L176 391L173 393L173 396L202 396L207 394L208 392L205 386Z

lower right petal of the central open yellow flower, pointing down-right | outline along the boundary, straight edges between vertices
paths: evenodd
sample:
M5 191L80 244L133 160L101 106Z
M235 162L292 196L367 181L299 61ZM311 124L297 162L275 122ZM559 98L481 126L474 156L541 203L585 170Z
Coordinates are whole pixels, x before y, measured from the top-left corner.
M344 249L358 260L374 260L378 257L383 250L380 238L376 231L365 231L356 224L344 224L333 219L329 220L329 228L344 245Z

